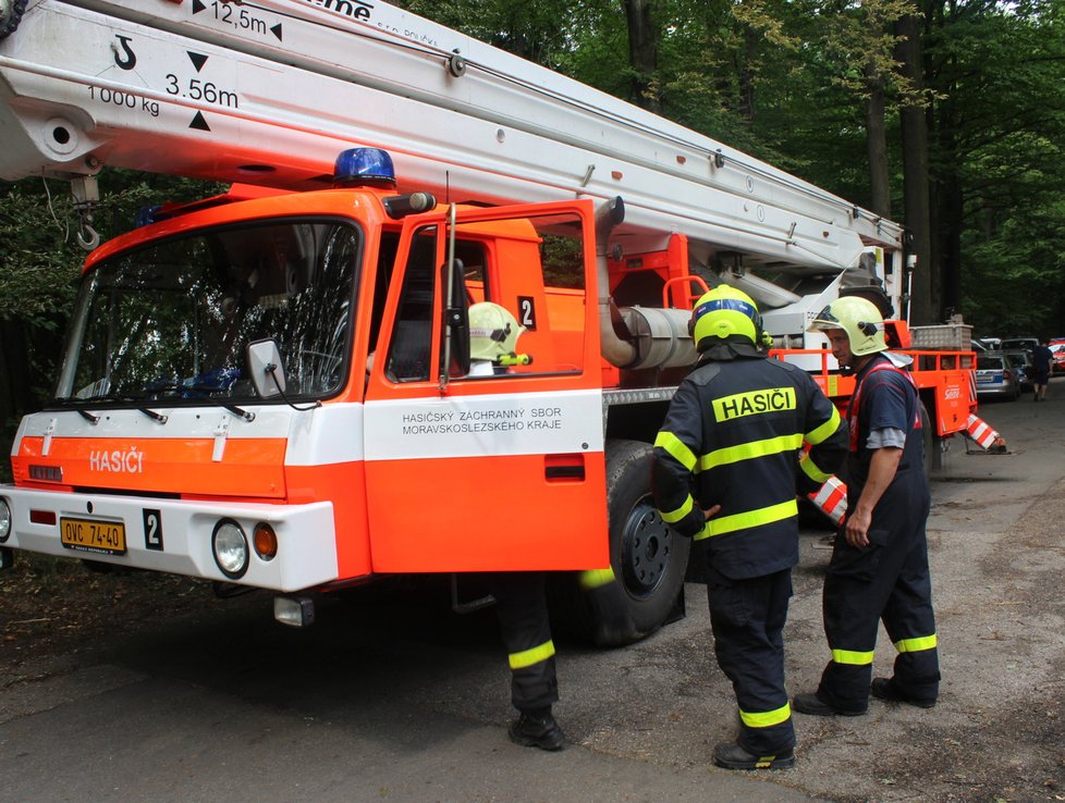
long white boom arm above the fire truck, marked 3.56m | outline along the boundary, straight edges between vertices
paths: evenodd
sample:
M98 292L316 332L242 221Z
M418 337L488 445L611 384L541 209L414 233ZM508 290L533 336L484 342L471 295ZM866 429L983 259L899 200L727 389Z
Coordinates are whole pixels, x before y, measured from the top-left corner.
M902 238L769 164L376 0L30 0L0 41L0 136L7 180L113 165L287 188L322 187L340 150L376 146L402 192L620 195L626 249L677 232L698 261L737 252L798 275Z

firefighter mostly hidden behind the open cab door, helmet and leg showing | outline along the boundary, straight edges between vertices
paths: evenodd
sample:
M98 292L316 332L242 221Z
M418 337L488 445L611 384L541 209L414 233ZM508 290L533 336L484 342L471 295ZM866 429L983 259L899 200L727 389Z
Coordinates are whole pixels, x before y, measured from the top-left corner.
M470 376L505 373L525 331L505 307L481 301L469 308ZM518 718L509 729L511 741L527 748L561 750L562 729L551 706L559 701L554 642L548 617L542 571L495 572L488 576L495 597L500 632L511 667L511 702Z

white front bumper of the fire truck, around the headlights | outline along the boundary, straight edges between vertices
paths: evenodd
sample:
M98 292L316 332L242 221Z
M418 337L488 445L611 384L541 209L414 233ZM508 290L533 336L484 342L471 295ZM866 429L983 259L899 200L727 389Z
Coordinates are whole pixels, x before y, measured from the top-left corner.
M298 591L335 580L333 506L186 502L107 494L71 494L0 485L11 508L11 534L2 546L61 557L87 558L137 569L187 575L276 591ZM34 521L30 520L34 511ZM64 546L62 518L122 522L126 552L107 555ZM54 523L49 523L51 520ZM250 548L247 571L227 577L215 563L211 535L220 519L232 519L250 542L258 522L273 527L278 554L264 560ZM148 523L148 522L151 523ZM37 523L40 522L40 523ZM160 531L157 522L161 523Z

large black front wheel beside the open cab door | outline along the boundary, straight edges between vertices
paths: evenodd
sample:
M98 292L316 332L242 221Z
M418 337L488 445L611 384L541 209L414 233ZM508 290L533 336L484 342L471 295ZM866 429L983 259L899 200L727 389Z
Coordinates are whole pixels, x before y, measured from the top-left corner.
M552 583L551 603L563 630L599 646L621 646L658 630L676 609L691 541L662 521L651 498L651 446L607 444L607 511L614 580L580 588L579 573Z

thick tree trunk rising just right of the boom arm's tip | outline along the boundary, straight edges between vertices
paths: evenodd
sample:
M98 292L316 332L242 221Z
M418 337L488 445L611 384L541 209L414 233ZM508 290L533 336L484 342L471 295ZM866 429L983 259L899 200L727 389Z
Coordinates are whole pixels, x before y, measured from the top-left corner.
M895 23L901 37L895 57L899 72L909 79L915 91L925 87L920 17L908 14ZM932 276L939 265L932 259L931 200L929 197L928 116L925 109L913 103L899 110L903 140L904 222L910 235L909 254L917 258L916 272L910 277L910 323L927 325L939 317L933 313ZM938 305L937 305L938 306ZM899 310L903 312L903 310Z

